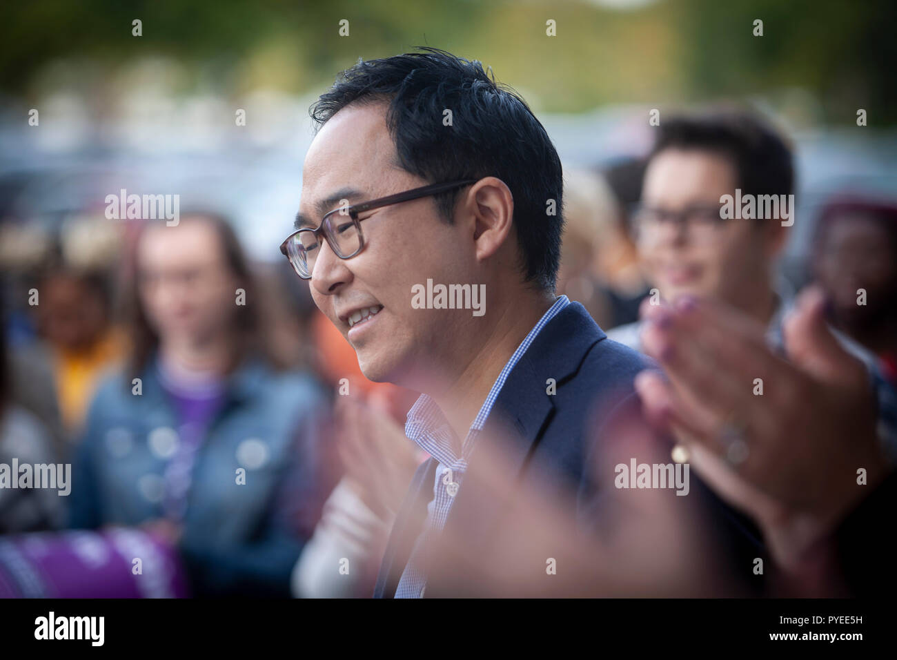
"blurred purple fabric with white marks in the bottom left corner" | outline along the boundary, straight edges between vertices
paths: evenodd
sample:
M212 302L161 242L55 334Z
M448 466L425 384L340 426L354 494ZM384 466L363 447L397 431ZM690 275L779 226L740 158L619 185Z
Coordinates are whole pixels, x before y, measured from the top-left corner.
M0 539L0 598L188 595L177 551L142 530L39 532Z

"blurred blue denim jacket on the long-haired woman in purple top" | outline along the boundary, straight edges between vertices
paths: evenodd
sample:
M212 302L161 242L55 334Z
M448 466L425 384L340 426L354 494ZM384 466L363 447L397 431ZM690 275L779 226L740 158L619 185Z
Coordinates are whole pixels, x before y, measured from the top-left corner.
M179 420L154 360L141 381L135 394L116 374L92 400L73 465L74 528L164 515L162 476ZM231 374L187 491L179 550L194 594L289 594L327 497L317 482L324 401L308 375L276 373L256 359Z

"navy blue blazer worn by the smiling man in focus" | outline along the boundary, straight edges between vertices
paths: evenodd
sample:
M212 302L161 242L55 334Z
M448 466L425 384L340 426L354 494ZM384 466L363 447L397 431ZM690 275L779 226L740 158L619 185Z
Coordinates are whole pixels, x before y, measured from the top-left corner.
M498 429L505 435L510 430L515 442L509 448L513 454L509 458L521 484L526 484L527 477L544 476L546 471L568 480L570 487L579 491L577 515L581 521L584 514L592 515L600 506L599 497L583 497L594 488L584 466L588 465L589 444L596 437L594 429L604 421L596 417L596 411L606 417L615 405L618 409L638 407L635 376L653 364L648 357L607 339L581 304L570 303L544 326L511 371L477 442L490 442ZM556 381L554 394L546 392L549 378ZM431 458L414 473L390 533L375 598L396 594L414 541L426 522L437 464ZM698 497L713 500L711 508L723 524L736 535L744 535L731 541L727 533L726 550L737 550L739 562L746 567L751 566L753 557L765 557L756 530L746 518L696 484L698 480L691 481L692 491L700 491ZM489 540L500 515L500 504L480 491L475 480L469 481L458 490L443 533L461 534L466 543L476 545Z

